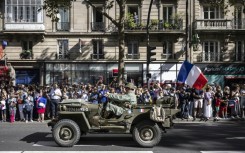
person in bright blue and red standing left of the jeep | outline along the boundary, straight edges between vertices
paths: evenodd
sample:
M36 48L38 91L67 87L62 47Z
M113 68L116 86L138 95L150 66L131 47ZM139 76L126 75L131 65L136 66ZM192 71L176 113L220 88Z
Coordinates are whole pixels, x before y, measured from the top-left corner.
M45 91L41 91L40 95L37 99L37 114L38 114L38 122L44 122L44 114L46 111L47 105L47 93Z

